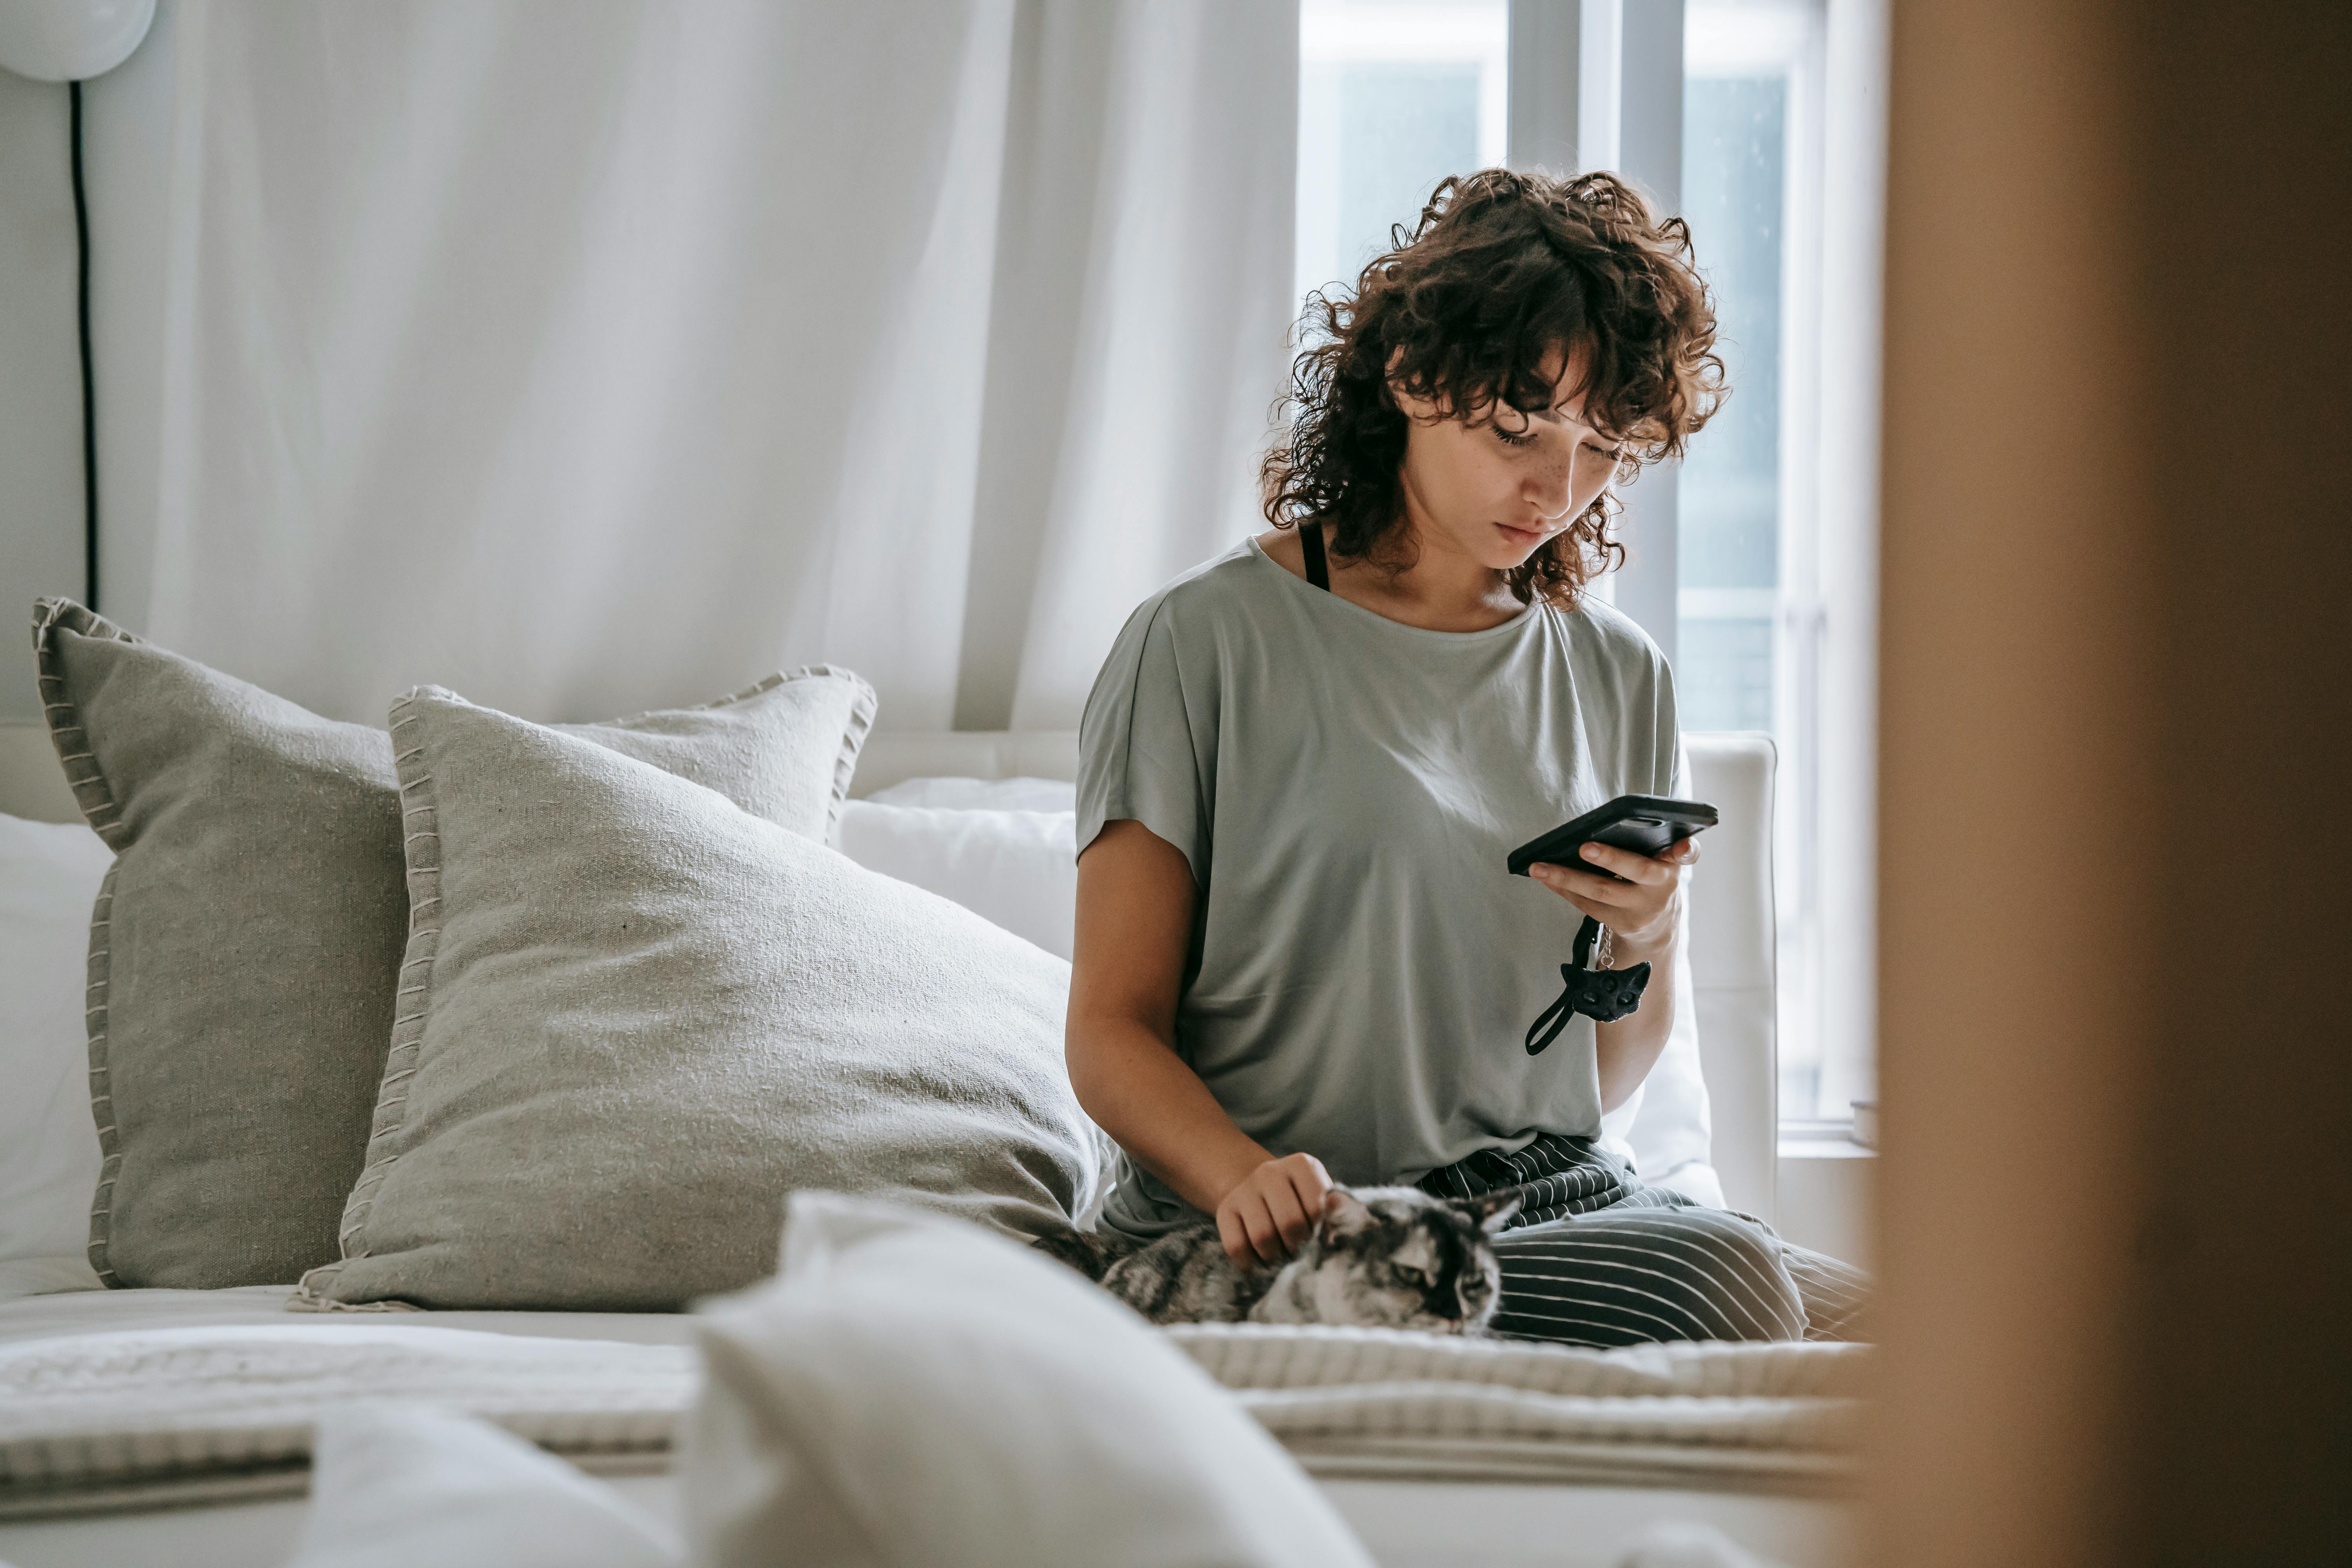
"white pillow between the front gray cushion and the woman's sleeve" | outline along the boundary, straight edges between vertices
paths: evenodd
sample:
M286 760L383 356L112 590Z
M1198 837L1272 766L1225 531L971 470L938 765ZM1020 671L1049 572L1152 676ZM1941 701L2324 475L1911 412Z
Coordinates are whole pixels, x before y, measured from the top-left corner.
M913 882L1056 957L1070 957L1070 926L1077 917L1075 811L938 809L854 799L842 806L837 835L840 851L866 870Z

